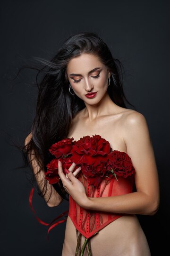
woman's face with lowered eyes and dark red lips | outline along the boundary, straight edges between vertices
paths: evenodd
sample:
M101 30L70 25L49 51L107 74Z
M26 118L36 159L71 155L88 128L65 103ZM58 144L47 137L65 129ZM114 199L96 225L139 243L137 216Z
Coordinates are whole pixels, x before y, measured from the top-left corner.
M67 75L73 89L71 92L88 104L98 103L107 92L110 72L94 55L82 54L72 58L67 66ZM85 94L89 92L97 93L93 98L87 98Z

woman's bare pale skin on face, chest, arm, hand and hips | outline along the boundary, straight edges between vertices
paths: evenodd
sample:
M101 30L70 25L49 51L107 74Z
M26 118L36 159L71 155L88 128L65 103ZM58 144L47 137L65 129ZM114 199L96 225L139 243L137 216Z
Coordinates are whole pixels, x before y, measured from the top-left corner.
M100 67L89 73L94 68ZM70 74L79 75L70 75ZM99 75L100 73L100 75ZM136 169L136 192L120 196L89 198L83 184L76 178L75 163L63 173L59 162L59 176L65 190L86 210L126 213L111 222L91 238L93 256L151 256L148 243L136 214L153 215L159 208L159 181L153 146L146 119L135 111L119 107L107 93L110 72L94 55L82 54L70 60L68 80L76 95L85 102L85 109L73 119L68 137L100 135L110 142L113 150L126 152ZM98 76L94 78L94 76ZM79 81L79 82L75 82ZM97 91L94 98L85 94ZM53 193L49 206L57 206L57 193ZM52 203L53 202L53 203ZM84 239L82 239L82 243ZM68 216L62 256L74 256L76 229ZM85 251L84 256L87 256Z

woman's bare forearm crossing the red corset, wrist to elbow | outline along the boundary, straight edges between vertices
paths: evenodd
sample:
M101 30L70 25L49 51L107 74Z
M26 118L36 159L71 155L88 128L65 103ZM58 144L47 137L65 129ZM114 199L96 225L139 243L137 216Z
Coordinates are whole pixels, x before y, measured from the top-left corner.
M119 196L88 197L84 208L114 213L153 215L158 210L158 202L144 192L132 192Z

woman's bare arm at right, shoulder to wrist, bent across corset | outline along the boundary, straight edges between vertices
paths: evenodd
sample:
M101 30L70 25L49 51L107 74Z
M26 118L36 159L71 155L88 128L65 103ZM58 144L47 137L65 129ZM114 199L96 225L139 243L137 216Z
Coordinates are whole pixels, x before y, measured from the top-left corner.
M127 154L136 169L136 192L102 198L88 197L84 208L153 215L159 208L159 181L146 120L141 113L134 111L125 118L122 127Z

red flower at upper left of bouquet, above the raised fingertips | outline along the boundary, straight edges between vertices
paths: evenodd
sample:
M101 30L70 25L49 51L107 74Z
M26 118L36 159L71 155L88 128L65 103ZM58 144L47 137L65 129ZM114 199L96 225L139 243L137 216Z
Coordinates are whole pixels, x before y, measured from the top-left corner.
M52 144L49 148L51 155L55 155L56 158L68 155L72 149L72 140L74 138L65 138Z

